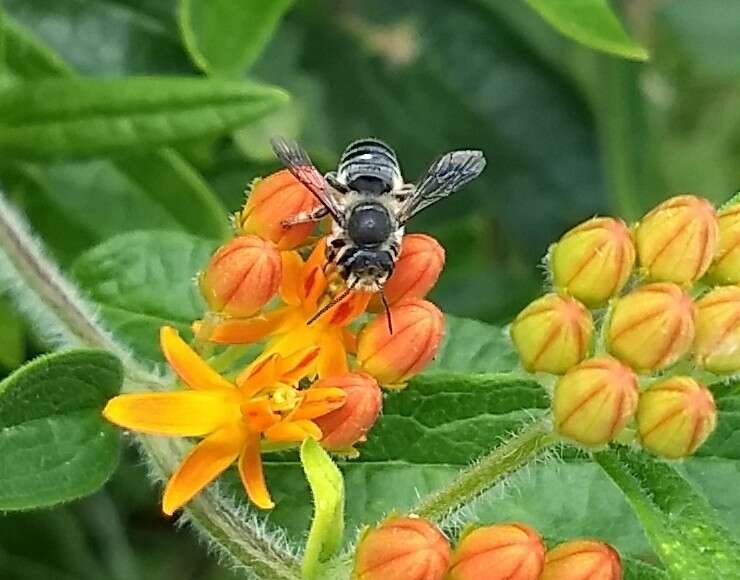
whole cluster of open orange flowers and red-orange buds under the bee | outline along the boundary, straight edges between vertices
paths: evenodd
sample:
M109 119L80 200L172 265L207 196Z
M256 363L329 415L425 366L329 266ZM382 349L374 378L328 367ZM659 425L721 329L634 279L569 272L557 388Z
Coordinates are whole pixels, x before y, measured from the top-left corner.
M444 266L442 246L421 234L403 239L386 286L391 332L375 296L353 291L338 300L344 282L314 224L283 225L317 204L288 171L253 183L236 236L198 277L208 311L193 322L193 344L161 330L184 388L121 395L103 411L128 429L201 438L165 488L167 514L234 463L250 500L271 508L263 453L310 437L356 455L381 411L380 387L403 388L437 352L444 317L424 297ZM241 345L258 345L259 354L247 362Z

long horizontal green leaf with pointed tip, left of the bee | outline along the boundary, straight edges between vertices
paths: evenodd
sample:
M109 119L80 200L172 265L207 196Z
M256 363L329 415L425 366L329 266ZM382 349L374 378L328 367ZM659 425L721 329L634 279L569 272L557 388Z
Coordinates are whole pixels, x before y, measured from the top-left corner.
M83 157L217 136L274 110L285 93L197 78L49 79L0 92L5 155Z

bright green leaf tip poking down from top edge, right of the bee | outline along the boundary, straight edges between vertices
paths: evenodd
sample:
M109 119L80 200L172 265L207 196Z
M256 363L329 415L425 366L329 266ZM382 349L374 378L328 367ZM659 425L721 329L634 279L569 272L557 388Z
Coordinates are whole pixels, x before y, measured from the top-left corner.
M573 40L632 60L647 50L624 31L606 0L525 0L553 27Z

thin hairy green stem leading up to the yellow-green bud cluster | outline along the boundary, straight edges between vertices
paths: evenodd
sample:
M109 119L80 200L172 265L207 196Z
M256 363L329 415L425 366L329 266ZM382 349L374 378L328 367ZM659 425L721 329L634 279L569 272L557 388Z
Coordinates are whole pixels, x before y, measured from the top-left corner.
M558 441L548 419L530 423L506 443L460 472L442 489L422 499L410 511L432 520L443 519L493 487L503 477L527 465Z

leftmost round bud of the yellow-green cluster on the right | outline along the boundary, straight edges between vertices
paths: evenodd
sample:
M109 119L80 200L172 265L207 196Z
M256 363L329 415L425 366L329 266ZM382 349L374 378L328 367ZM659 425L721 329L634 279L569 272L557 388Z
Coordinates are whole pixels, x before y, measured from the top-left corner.
M578 300L547 294L519 313L511 339L525 369L559 375L586 358L593 330L591 313Z

